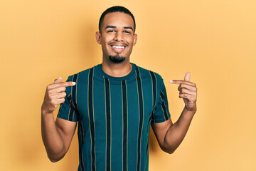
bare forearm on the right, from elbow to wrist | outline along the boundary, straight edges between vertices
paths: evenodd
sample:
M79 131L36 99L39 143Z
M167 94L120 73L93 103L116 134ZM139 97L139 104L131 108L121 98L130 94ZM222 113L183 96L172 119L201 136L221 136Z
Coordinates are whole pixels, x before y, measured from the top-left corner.
M185 137L195 111L183 109L176 123L170 126L164 138L164 151L173 153Z

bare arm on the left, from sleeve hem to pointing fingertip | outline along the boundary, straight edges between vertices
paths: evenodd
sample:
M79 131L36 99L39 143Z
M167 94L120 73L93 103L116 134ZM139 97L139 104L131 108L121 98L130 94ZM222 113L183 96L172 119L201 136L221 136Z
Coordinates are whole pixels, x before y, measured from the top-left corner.
M75 133L76 122L57 118L54 121L53 111L65 101L65 87L74 86L72 82L61 82L58 78L46 88L46 95L41 108L41 133L51 162L62 159Z

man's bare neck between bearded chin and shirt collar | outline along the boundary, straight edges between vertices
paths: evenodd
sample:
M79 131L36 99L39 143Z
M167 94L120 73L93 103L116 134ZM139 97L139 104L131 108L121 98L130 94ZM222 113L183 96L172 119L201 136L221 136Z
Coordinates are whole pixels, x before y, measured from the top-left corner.
M132 64L129 61L123 61L122 63L110 63L102 61L102 70L107 73L107 75L113 77L123 77L127 76L132 71Z

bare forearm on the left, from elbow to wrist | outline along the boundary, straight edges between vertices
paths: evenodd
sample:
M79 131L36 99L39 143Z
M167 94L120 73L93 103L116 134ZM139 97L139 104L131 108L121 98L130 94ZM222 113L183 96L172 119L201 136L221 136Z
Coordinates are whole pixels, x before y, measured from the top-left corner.
M41 133L43 144L50 161L57 162L65 155L65 145L62 136L56 128L53 113L41 112Z

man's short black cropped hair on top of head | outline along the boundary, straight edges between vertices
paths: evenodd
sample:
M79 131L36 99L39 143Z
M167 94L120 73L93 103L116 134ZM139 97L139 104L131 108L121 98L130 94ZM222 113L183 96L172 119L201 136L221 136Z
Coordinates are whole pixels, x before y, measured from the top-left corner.
M114 13L114 12L121 12L121 13L124 13L124 14L128 14L129 16L132 16L132 19L134 21L134 33L135 33L136 24L135 24L134 16L132 15L131 11L129 11L129 9L125 8L124 6L112 6L108 9L106 9L102 13L102 15L100 16L100 21L99 21L99 31L100 31L100 33L101 33L102 22L103 22L103 19L104 19L105 15L110 14L110 13Z

